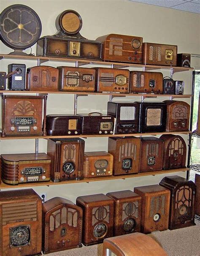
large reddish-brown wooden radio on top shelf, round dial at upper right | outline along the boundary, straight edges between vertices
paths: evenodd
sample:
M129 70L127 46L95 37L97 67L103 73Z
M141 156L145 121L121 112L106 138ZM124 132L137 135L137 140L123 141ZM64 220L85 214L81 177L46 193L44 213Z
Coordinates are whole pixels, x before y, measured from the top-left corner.
M96 40L103 43L103 61L142 63L142 37L109 34Z

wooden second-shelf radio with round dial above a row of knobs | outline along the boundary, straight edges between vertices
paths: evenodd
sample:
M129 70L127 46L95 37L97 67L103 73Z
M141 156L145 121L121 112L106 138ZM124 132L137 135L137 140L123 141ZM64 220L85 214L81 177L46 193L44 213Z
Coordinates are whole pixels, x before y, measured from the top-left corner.
M96 92L129 93L129 70L96 67Z

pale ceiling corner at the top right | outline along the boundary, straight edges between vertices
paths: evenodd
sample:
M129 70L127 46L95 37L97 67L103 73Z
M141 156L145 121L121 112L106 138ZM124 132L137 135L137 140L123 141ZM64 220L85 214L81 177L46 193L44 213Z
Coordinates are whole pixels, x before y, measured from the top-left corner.
M129 0L200 14L200 0Z

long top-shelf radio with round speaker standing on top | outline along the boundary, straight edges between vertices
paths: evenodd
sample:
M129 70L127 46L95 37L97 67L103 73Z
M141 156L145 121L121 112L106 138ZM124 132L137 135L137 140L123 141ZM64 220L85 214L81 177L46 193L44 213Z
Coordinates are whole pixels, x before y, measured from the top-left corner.
M87 40L79 31L82 18L73 10L63 11L56 19L57 33L43 36L37 42L37 56L102 59L102 43Z

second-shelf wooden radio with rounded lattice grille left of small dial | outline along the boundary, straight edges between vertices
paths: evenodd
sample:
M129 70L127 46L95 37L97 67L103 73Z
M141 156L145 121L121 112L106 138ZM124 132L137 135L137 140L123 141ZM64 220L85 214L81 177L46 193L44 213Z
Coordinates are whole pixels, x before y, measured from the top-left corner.
M59 91L95 92L95 69L85 67L57 67Z

